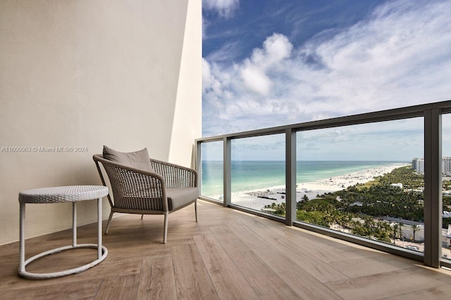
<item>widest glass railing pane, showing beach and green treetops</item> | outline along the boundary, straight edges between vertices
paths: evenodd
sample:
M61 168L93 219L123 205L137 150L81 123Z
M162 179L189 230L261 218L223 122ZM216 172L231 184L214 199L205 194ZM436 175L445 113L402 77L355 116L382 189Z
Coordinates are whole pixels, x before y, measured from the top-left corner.
M423 252L422 122L297 133L297 220Z

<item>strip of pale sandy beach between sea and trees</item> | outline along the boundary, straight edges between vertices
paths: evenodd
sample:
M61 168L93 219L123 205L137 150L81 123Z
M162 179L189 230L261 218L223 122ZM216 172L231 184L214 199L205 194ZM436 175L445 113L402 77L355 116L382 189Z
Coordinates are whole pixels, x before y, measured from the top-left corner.
M309 199L316 198L316 195L331 193L342 190L357 183L366 183L373 178L390 173L393 169L404 167L407 164L395 164L390 166L376 167L365 171L354 172L342 176L321 179L309 183L299 183L296 188L296 201L307 195ZM259 190L247 190L232 193L232 203L242 207L261 210L265 205L285 202L285 185L271 186Z

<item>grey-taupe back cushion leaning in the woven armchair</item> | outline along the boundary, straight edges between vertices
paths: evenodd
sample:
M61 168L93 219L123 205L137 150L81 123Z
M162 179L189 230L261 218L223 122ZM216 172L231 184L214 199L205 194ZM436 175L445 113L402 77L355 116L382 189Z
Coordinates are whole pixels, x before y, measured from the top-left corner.
M135 152L119 152L104 145L103 155L104 159L109 159L111 162L118 162L128 167L154 172L147 148Z

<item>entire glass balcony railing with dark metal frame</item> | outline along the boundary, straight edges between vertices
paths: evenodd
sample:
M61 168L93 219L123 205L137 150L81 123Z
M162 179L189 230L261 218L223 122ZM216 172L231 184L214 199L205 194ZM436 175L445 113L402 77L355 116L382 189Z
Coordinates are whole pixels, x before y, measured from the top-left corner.
M445 101L199 138L201 198L450 267L449 112Z

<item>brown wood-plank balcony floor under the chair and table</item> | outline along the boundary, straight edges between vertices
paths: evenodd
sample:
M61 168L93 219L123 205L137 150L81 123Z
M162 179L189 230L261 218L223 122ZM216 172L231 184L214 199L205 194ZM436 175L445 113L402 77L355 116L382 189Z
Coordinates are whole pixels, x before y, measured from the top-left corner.
M450 299L449 270L200 200L198 214L198 223L192 207L170 214L167 244L163 216L113 219L105 261L51 280L20 278L18 243L0 246L0 298ZM78 243L95 243L96 227L80 226ZM26 258L71 241L71 230L29 239ZM96 255L61 252L27 270L73 268Z

